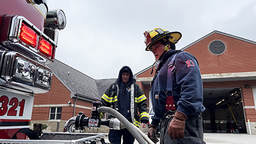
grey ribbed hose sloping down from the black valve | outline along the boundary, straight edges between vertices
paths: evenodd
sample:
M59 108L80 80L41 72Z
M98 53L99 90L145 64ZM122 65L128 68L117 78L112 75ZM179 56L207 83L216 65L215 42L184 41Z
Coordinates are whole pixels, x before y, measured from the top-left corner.
M114 117L116 117L118 120L121 121L121 123L124 124L124 126L126 126L127 130L129 130L129 132L135 137L135 139L142 144L147 144L145 139L143 139L143 137L140 135L139 132L137 132L137 130L135 129L135 127L133 127L133 124L130 123L130 121L128 121L123 115L121 115L118 111L114 110L113 108L110 107L99 107L98 110L100 112L103 113L110 113L112 114Z

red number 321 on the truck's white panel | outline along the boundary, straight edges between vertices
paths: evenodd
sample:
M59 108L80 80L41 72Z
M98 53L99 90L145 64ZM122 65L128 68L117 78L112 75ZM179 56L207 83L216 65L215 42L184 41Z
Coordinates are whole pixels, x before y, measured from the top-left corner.
M7 116L17 116L17 107L20 107L20 113L18 116L23 116L23 111L24 111L24 105L25 105L25 100L18 101L18 98L9 98L5 95L2 95L0 97L0 105L2 103L2 106L0 107L0 116L4 116L7 113ZM12 105L11 108L8 110L8 104Z

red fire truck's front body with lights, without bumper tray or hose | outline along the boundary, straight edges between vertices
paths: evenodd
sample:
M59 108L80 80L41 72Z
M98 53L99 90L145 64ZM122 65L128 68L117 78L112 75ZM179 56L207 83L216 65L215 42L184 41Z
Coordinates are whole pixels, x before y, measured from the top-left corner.
M0 139L30 127L35 94L50 91L61 9L46 0L0 1ZM21 135L18 139L27 139Z

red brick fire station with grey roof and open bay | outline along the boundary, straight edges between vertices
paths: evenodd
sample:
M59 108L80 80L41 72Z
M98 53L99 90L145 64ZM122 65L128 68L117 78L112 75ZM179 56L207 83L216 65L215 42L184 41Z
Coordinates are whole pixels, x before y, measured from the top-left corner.
M199 60L206 107L205 132L256 134L256 67L253 64L256 42L213 31L181 50ZM49 67L53 70L52 88L46 94L36 94L31 126L47 124L51 132L56 131L57 121L60 121L61 132L65 121L79 111L90 116L92 101L100 100L108 85L115 81L95 80L58 60ZM149 66L135 74L137 84L148 98L149 108L151 70Z

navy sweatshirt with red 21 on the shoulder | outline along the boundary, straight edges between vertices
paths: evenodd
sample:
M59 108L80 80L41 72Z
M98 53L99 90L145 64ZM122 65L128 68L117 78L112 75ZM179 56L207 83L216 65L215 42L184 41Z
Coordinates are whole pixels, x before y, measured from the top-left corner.
M175 72L167 78L168 64L175 53ZM168 59L168 60L167 60ZM197 116L205 108L203 106L203 86L199 64L196 57L187 52L169 50L164 56L164 63L152 84L151 100L155 115L152 116L152 123L158 126L159 119L164 116L167 82L172 82L173 97L177 111L183 112L186 116Z

